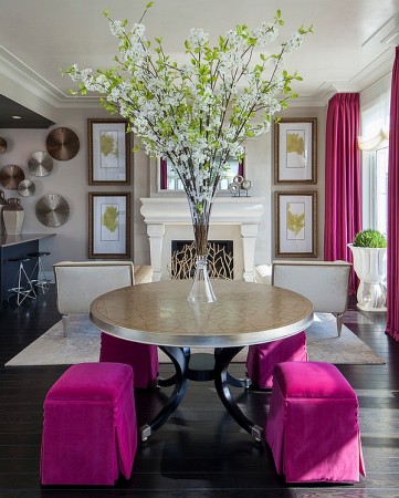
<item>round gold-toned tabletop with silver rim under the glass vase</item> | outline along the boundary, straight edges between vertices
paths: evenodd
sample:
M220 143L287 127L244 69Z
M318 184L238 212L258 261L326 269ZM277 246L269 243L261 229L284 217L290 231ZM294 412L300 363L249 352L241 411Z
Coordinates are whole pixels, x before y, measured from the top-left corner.
M216 280L212 286L218 300L191 304L187 301L191 281L174 280L108 292L92 303L92 321L125 339L204 346L273 340L296 333L300 325L312 322L312 303L285 289Z

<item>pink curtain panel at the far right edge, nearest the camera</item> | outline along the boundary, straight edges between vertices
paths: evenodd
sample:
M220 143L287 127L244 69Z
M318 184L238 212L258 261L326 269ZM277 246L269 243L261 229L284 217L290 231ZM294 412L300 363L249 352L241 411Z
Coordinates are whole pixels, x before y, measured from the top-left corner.
M399 46L392 70L388 156L387 333L399 341Z

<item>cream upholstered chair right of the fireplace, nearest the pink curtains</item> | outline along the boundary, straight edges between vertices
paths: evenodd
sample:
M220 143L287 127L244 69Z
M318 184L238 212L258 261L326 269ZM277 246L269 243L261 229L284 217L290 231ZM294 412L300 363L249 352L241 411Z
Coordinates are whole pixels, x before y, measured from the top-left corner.
M340 335L343 314L348 305L349 274L347 261L274 261L272 284L305 295L319 313L333 313Z

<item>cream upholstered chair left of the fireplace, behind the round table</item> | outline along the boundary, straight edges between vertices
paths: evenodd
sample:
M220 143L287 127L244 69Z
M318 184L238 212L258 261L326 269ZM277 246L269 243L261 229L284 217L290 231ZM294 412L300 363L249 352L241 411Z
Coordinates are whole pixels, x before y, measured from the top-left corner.
M114 289L150 282L153 268L130 261L62 261L53 266L56 307L66 335L70 314L88 313L98 295Z

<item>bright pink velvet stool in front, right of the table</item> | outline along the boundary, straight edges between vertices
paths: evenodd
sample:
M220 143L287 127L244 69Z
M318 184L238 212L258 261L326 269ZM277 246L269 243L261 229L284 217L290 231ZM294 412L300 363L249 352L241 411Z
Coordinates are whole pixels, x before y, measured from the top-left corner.
M356 393L329 363L276 365L265 434L287 483L354 483L366 475Z

